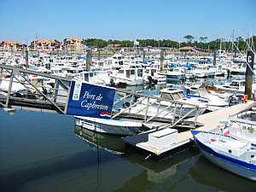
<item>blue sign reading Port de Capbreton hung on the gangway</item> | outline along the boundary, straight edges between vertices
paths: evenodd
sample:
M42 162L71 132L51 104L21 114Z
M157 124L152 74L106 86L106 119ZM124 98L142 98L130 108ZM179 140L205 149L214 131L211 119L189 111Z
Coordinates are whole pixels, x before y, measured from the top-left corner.
M115 89L73 81L67 103L67 114L110 119Z

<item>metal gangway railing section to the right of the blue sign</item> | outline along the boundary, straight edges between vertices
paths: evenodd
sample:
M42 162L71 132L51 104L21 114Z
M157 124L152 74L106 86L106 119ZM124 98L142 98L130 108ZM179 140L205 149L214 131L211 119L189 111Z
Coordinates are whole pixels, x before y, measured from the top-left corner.
M191 113L195 113L195 122L190 125L191 128L195 128L197 116L200 109L198 105L164 99L158 96L149 96L143 93L132 92L129 90L117 89L116 91L117 94L119 94L120 98L116 99L115 102L113 102L113 106L117 106L117 104L120 102L128 102L129 105L125 106L125 108L122 108L122 110L114 113L111 119L118 118L122 115L136 115L135 117L139 118L139 114L143 113L143 116L140 116L140 119L143 119L144 123L154 122L157 120L161 121L166 119L167 126L173 127L182 123L184 119L187 119L189 115L191 115ZM136 107L137 105L141 105L141 108L136 112L136 114L132 114L132 108ZM187 109L186 111L184 110L185 108ZM154 113L152 114L152 112ZM164 118L161 115L163 113L168 113L172 115L173 118Z

